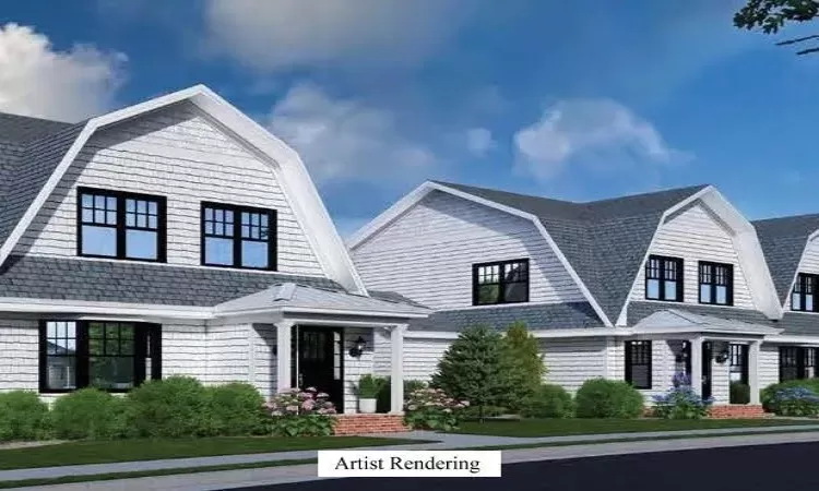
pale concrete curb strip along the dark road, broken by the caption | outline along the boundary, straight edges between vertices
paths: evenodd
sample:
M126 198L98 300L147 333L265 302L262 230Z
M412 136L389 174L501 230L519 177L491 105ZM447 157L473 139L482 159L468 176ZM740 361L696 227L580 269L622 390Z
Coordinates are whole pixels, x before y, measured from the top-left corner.
M640 442L618 442L579 444L570 446L508 450L503 451L503 464L535 460L558 460L567 458L595 457L606 455L639 454L652 452L675 452L685 450L719 448L749 445L775 445L786 443L819 442L819 432L755 434L737 436L705 436L690 440L652 440ZM428 446L427 446L428 447ZM406 450L405 446L401 448ZM438 446L438 448L442 448ZM375 447L371 450L383 450ZM212 491L223 489L274 486L323 479L317 477L314 464L268 467L246 470L226 470L152 478L121 479L116 481L83 482L40 487L50 491L138 491L145 489L170 491ZM26 489L26 488L17 488ZM31 489L31 488L27 488Z

